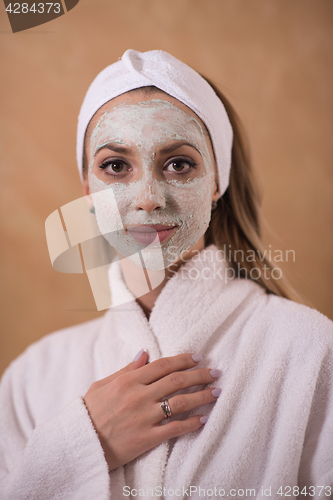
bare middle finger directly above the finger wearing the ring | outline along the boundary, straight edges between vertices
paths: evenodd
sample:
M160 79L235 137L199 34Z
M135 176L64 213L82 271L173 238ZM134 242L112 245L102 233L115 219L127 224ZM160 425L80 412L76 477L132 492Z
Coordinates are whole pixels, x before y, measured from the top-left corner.
M216 380L221 375L219 370L202 368L198 370L173 372L170 375L151 384L151 394L156 401L169 394L186 389L194 385L206 385Z

